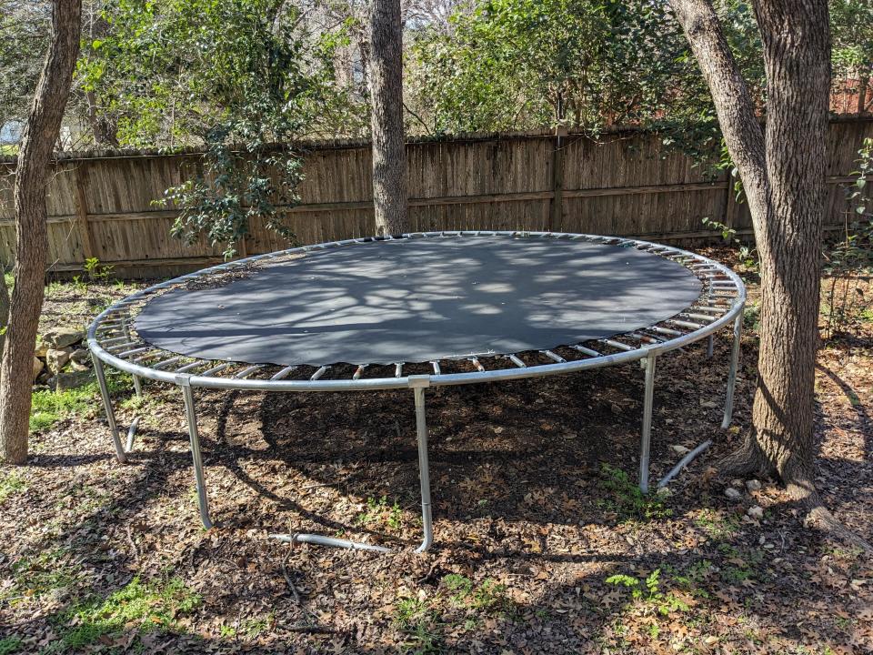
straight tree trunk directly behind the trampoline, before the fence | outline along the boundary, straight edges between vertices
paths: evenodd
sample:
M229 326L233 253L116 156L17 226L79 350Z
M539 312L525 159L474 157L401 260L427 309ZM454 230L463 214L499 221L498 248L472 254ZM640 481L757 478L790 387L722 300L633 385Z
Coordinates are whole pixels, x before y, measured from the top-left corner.
M399 0L375 0L370 14L369 87L376 233L408 231L403 131L403 36Z

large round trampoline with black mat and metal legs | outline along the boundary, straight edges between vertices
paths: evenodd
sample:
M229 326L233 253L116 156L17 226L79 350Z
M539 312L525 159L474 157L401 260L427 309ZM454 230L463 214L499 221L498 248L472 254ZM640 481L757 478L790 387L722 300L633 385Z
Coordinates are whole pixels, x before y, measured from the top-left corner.
M638 361L645 370L639 486L657 357L733 328L728 427L746 290L728 267L637 239L551 232L425 232L296 247L148 287L88 330L117 459L104 366L182 388L200 517L212 526L194 391L409 389L415 399L424 537L433 541L426 389L567 374ZM386 551L312 534L278 535Z

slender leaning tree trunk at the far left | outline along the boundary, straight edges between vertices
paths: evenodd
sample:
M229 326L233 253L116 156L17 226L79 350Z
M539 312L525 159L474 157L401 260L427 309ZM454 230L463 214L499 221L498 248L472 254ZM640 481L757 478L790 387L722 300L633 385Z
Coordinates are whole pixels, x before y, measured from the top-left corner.
M34 347L43 305L45 183L79 51L81 0L55 0L52 41L36 87L15 168L15 287L0 362L0 446L3 459L27 459Z

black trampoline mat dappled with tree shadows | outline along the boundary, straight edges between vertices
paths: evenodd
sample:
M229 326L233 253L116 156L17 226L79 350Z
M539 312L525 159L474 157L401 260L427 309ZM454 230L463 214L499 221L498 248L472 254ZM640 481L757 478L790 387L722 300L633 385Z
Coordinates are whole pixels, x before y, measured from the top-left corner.
M149 301L135 328L158 348L204 359L426 362L646 328L694 303L700 289L687 268L632 247L409 238L316 250L222 287L179 287Z

